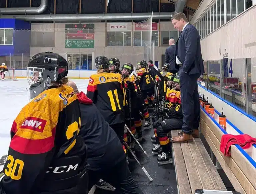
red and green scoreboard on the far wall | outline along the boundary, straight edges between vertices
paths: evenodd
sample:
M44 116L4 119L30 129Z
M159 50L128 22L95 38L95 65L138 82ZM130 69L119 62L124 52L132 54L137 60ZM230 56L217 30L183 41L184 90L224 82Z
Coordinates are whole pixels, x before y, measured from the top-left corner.
M66 24L66 48L94 48L94 24Z

